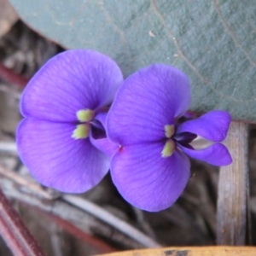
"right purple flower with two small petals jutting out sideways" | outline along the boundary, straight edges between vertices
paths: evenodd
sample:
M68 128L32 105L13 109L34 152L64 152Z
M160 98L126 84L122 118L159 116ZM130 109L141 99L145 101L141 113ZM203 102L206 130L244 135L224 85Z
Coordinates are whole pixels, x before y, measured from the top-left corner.
M119 193L135 207L154 212L177 200L190 176L186 154L215 166L231 163L219 143L227 135L230 114L211 111L180 123L189 103L189 80L165 65L146 67L119 88L107 117L108 137L120 145L110 170ZM214 143L195 150L189 143L197 136Z

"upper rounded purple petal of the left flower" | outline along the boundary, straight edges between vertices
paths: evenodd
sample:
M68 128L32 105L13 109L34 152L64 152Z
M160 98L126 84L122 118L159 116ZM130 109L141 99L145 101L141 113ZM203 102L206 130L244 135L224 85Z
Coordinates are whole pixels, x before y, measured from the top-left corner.
M23 116L73 122L81 109L113 102L123 81L118 65L89 49L67 50L49 60L31 79L21 98Z

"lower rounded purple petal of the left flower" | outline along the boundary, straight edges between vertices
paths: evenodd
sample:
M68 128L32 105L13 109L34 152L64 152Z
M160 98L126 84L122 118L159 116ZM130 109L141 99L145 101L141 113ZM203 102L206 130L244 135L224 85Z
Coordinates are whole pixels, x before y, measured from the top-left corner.
M74 140L75 125L23 119L17 130L20 159L39 183L67 193L96 186L110 166L110 158L89 138Z

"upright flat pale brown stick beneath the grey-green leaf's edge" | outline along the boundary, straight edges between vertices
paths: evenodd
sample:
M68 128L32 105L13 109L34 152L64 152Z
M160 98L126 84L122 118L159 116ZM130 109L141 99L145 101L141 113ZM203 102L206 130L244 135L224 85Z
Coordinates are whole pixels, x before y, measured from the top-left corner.
M247 227L247 125L232 122L226 145L233 163L220 168L217 244L244 245Z

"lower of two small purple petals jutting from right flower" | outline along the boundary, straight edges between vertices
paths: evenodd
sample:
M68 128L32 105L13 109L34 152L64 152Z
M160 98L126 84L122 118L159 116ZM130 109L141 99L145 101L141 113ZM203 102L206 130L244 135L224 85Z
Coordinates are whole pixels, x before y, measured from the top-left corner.
M178 147L190 157L206 161L212 166L228 166L232 163L230 152L222 143L214 143L210 147L201 150L186 148L180 144L178 144Z

